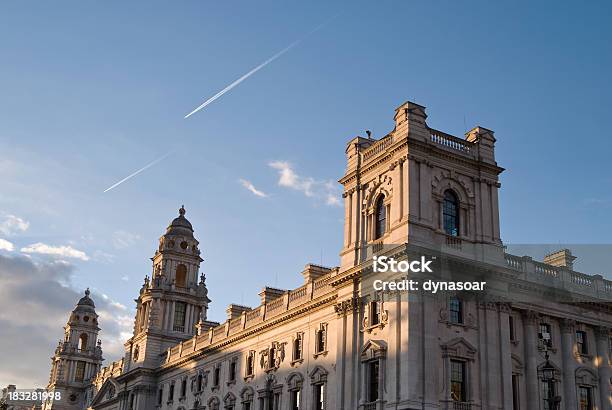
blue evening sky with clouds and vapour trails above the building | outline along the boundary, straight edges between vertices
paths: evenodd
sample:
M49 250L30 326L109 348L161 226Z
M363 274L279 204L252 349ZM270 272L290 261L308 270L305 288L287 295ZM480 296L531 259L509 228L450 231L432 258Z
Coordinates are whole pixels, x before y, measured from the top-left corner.
M337 265L345 144L384 136L406 100L447 133L495 131L506 243L610 243L611 17L605 1L3 2L0 385L46 384L86 287L117 359L182 204L212 320Z

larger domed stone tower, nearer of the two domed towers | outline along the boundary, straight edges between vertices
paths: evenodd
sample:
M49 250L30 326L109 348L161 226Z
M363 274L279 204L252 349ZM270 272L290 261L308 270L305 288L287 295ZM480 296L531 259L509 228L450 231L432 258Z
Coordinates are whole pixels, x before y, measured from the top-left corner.
M196 324L206 320L208 290L199 275L199 242L193 227L179 209L153 256L152 277L145 277L136 299L134 334L125 344L124 371L154 368L160 354L195 335Z

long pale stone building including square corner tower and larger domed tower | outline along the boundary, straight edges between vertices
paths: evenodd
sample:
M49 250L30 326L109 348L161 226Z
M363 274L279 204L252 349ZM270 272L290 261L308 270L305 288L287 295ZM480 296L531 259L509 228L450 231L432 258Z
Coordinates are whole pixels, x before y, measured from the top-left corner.
M125 356L66 408L611 409L612 282L574 271L569 250L544 262L506 253L493 131L457 138L426 119L407 102L388 135L348 142L339 266L308 264L302 286L265 287L222 323L207 318L181 208ZM420 283L487 289L376 290L405 275L374 272L374 255L435 260L434 273L408 274Z

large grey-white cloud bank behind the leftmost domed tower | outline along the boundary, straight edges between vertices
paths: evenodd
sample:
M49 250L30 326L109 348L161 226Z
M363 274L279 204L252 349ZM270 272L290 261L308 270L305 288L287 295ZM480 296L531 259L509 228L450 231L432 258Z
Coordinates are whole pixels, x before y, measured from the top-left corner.
M45 386L57 342L70 311L83 297L71 284L74 267L67 263L36 263L24 257L0 255L0 384L21 388ZM96 290L91 293L100 315L104 357L123 356L123 342L131 336L133 312ZM25 320L24 318L36 318ZM27 339L28 354L23 354ZM108 363L108 361L106 362Z

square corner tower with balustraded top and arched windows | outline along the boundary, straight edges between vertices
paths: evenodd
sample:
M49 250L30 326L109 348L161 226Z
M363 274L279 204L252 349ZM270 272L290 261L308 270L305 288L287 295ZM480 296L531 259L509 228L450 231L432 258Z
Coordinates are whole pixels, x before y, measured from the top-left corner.
M384 137L347 144L341 269L366 260L368 249L407 242L503 262L493 131L446 134L413 102L396 108L394 120Z

